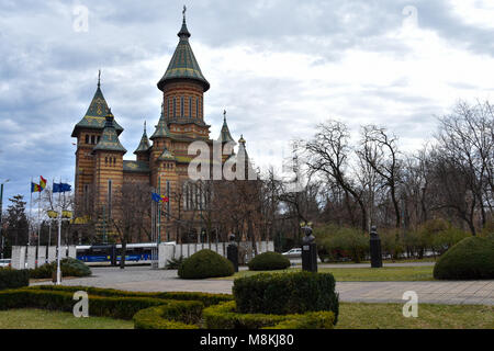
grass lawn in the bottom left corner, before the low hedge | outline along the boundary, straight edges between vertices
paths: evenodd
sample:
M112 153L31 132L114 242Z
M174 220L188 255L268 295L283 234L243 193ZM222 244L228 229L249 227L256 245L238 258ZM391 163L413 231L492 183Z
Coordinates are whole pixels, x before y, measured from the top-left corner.
M0 329L134 329L134 322L106 317L76 318L67 312L23 308L0 310Z

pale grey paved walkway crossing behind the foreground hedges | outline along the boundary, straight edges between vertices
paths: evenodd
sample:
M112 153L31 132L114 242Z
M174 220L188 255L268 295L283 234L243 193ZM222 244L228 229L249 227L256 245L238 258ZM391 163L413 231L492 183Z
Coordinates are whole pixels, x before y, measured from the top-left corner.
M137 292L209 292L226 294L232 293L233 286L233 281L227 280L181 280L177 278L176 270L150 270L149 267L128 267L125 270L97 268L92 271L92 276L68 279L63 281L63 284L112 287ZM41 282L35 284L50 283ZM492 280L337 282L336 291L339 293L341 302L404 303L402 299L403 293L414 291L417 293L419 303L494 305L494 281Z

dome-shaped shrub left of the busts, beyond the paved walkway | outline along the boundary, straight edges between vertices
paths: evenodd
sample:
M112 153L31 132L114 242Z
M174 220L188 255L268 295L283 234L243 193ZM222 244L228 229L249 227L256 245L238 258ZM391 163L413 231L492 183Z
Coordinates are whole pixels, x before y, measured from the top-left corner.
M207 249L192 254L178 270L178 275L182 279L229 276L233 273L234 267L231 261Z

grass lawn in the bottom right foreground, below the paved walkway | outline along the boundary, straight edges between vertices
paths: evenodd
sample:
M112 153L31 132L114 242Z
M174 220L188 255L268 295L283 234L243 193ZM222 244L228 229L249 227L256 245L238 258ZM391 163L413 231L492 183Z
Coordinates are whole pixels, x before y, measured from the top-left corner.
M402 304L340 303L336 329L493 329L494 306L418 304L403 317Z

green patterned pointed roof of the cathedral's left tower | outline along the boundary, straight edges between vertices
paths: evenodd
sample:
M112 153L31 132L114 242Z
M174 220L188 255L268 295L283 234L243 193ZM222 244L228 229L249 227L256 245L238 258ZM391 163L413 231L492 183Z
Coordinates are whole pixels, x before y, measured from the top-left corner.
M104 100L103 93L101 92L100 82L98 81L98 89L92 98L92 101L88 107L82 120L74 127L72 137L77 137L77 129L89 128L89 129L102 129L104 128L105 120L104 116L109 113L110 109L108 106L106 100ZM123 128L113 120L113 126L116 133L120 135Z

